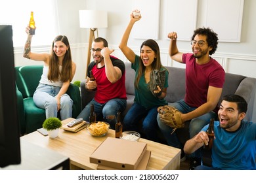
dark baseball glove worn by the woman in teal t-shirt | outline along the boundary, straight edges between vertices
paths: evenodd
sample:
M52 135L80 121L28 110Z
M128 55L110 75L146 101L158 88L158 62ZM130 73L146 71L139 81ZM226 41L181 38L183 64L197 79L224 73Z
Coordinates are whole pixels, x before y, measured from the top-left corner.
M158 90L156 86L159 86L161 89L165 84L165 70L159 71L154 69L150 73L150 82L149 82L149 90L152 92L153 95L158 96L158 93L154 93L154 90Z

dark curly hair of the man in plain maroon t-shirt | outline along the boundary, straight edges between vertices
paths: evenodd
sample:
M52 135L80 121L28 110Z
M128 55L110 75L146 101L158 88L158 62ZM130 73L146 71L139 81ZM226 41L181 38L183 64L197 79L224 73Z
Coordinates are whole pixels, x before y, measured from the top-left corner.
M209 51L209 55L214 54L215 51L217 50L217 47L218 47L218 35L217 35L217 33L215 33L209 27L207 27L207 28L205 28L205 27L198 28L194 31L194 35L192 35L191 41L194 40L196 35L205 35L207 37L206 41L207 41L208 45L213 48L212 50Z

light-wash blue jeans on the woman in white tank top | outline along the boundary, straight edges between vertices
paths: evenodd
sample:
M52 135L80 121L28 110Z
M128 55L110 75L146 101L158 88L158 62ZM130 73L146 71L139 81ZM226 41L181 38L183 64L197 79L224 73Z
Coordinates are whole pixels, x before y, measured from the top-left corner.
M55 96L60 92L59 86L51 86L41 84L37 86L35 93L33 93L33 102L39 108L45 108L46 118L57 117L57 101ZM60 97L60 118L65 120L72 117L73 101L68 94Z

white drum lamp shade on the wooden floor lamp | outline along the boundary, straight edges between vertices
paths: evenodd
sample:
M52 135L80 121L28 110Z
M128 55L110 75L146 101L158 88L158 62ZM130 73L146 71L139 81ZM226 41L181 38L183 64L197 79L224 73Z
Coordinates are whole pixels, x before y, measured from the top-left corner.
M81 28L108 27L108 12L104 10L79 10Z

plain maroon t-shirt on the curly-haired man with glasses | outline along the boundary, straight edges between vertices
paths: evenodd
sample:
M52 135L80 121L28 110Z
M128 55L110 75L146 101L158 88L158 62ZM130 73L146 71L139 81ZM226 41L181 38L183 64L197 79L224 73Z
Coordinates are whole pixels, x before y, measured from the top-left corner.
M186 63L186 95L184 101L190 107L200 107L207 101L209 86L223 88L225 72L213 58L208 63L199 65L193 54L183 54Z

